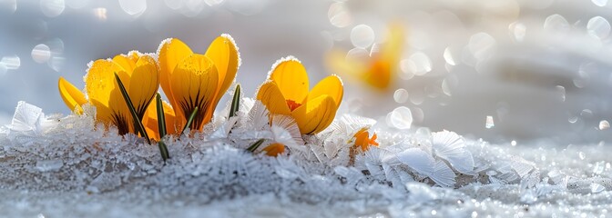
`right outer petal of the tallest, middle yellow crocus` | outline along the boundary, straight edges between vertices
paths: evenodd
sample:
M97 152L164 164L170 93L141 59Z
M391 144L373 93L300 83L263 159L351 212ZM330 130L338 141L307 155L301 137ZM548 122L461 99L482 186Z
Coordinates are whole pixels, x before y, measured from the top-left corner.
M221 35L215 39L206 51L206 56L215 63L217 72L219 73L219 85L217 90L217 97L215 97L215 104L219 102L219 99L228 91L231 83L233 83L238 67L240 64L240 54L238 53L238 47L234 43L234 39L230 35Z

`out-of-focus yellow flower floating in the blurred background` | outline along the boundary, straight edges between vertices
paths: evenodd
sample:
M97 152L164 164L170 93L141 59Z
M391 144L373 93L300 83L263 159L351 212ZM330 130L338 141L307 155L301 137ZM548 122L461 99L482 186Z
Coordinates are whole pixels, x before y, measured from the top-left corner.
M389 35L379 51L372 49L370 56L356 58L346 51L334 49L326 56L331 72L348 74L349 78L365 82L379 90L385 90L393 82L403 50L403 26L389 26Z

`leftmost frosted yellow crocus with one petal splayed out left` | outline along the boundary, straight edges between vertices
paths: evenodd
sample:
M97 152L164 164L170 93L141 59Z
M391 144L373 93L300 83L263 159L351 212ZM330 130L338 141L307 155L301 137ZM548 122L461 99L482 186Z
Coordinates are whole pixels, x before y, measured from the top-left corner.
M119 134L135 133L134 121L115 74L125 85L138 118L142 119L159 86L158 64L147 54L130 52L113 59L99 59L90 64L84 77L87 98L62 77L58 82L59 94L68 108L77 113L80 113L81 105L92 104L96 107L98 122L116 125Z

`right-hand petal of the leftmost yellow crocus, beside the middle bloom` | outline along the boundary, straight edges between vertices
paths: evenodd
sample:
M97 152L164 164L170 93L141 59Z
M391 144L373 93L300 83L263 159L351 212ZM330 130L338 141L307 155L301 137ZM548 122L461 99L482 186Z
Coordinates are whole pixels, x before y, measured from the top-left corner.
M148 104L151 102L159 87L158 64L153 57L143 55L135 64L134 72L129 81L128 94L136 109L138 118L145 114Z

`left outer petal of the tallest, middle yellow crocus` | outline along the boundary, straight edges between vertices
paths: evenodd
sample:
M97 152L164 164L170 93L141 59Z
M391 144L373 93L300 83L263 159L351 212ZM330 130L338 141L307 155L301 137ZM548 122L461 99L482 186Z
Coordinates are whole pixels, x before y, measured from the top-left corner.
M158 48L158 61L159 61L159 84L164 90L164 93L168 97L168 101L172 104L172 107L178 108L179 105L175 101L175 96L172 93L170 87L170 75L177 64L183 59L193 54L188 45L185 45L179 39L172 38L161 42ZM182 113L177 110L177 113Z

